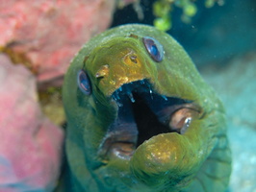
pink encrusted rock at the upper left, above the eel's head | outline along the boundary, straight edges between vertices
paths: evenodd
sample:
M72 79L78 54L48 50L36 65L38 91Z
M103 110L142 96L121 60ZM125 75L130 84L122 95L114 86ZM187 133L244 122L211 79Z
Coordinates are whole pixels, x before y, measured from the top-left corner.
M0 50L40 82L58 78L82 44L109 26L114 9L115 0L0 0Z

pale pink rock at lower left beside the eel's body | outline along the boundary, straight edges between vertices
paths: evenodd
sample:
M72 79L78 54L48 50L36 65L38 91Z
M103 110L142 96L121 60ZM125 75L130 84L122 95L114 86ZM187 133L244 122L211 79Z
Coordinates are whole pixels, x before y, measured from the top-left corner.
M36 78L0 55L0 191L50 191L64 132L40 112Z

